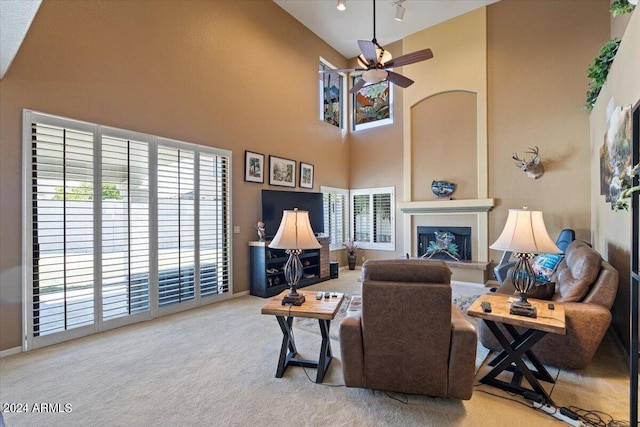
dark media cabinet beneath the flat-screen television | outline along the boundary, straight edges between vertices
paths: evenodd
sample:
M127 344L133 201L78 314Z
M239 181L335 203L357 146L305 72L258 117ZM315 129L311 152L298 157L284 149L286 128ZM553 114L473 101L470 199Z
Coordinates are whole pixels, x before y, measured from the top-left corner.
M300 288L330 279L329 238L318 237L320 249L308 249L300 255L304 275ZM249 242L250 293L258 297L272 297L288 288L284 278L284 264L289 255L283 249L269 248L269 242Z

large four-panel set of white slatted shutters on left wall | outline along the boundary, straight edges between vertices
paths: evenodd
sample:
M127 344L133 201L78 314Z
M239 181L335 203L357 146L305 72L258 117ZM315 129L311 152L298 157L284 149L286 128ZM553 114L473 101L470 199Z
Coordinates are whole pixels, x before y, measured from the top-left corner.
M231 152L31 111L24 124L28 348L230 296Z

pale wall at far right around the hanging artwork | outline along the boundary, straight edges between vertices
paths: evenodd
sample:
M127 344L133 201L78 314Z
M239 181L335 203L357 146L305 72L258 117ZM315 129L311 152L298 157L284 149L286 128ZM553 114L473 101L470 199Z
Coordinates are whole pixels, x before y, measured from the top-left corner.
M625 211L612 211L611 204L606 203L604 196L600 195L599 186L599 152L604 142L604 134L609 127L607 104L613 101L614 106L634 106L640 102L640 79L638 78L640 75L640 14L636 9L631 18L622 16L620 19L628 21L628 26L590 117L592 182L590 195L593 245L620 274L620 287L614 304L613 328L628 347L631 215Z

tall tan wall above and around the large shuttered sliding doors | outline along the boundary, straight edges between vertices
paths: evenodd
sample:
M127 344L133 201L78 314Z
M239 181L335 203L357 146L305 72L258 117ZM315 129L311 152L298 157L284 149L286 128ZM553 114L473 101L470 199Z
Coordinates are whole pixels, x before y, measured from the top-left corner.
M21 345L24 108L233 151L234 292L260 190L244 150L348 188L346 134L318 119L318 57L347 61L271 1L45 0L0 81L0 349ZM274 187L272 187L274 188Z

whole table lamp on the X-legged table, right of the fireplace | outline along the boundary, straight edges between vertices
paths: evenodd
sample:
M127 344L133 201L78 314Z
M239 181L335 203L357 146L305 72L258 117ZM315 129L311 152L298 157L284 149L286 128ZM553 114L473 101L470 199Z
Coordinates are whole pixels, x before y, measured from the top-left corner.
M511 280L520 294L520 300L511 304L509 313L537 317L536 308L527 301L527 292L536 282L536 274L530 260L539 253L562 253L547 233L542 212L530 211L527 208L509 209L502 234L489 247L513 252L513 256L518 260L511 270Z

